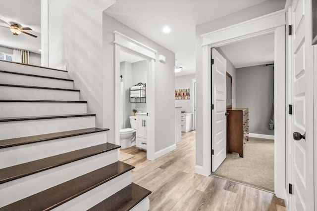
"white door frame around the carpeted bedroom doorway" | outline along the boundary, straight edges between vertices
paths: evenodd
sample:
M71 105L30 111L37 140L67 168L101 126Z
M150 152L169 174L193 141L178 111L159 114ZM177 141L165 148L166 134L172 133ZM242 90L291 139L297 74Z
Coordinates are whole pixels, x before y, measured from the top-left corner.
M195 172L211 174L211 48L274 33L274 190L285 198L285 11L279 10L201 35L203 52L203 167ZM277 153L278 152L278 153Z

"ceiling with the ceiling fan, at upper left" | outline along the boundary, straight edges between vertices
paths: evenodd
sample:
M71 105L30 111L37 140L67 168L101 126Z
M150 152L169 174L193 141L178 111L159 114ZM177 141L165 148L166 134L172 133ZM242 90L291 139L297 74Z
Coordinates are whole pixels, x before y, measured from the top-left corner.
M0 45L41 53L41 0L0 0L0 5L1 20L30 27L32 31L27 32L38 36L34 38L23 33L14 36L8 28L0 27Z

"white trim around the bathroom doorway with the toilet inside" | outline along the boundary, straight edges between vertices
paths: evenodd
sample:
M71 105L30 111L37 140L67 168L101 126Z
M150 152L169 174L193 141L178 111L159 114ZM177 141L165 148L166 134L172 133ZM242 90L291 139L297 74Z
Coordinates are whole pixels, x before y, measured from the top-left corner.
M120 50L130 51L148 60L147 70L147 159L155 160L155 113L154 113L154 74L156 50L137 42L117 31L114 34L114 139L120 145Z

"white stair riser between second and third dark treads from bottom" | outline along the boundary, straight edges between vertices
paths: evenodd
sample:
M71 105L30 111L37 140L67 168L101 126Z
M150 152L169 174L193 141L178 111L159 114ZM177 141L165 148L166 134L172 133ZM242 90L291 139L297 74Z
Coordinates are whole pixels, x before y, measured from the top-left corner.
M105 167L117 159L117 150L112 150L3 183L0 189L0 207Z

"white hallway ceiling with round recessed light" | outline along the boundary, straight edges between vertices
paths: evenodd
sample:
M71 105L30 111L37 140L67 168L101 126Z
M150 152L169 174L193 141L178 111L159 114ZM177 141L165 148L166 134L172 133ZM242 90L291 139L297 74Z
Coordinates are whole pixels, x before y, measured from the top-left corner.
M116 0L106 9L140 34L173 51L179 75L196 73L196 25L217 19L265 0ZM171 32L164 34L162 28Z

